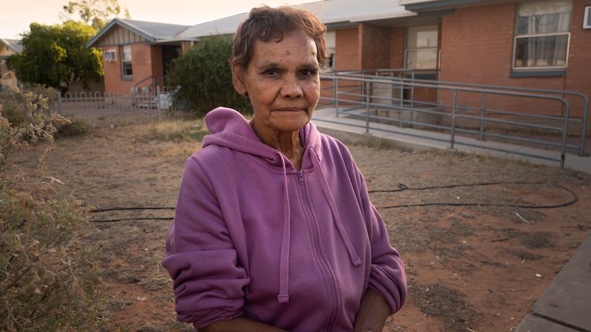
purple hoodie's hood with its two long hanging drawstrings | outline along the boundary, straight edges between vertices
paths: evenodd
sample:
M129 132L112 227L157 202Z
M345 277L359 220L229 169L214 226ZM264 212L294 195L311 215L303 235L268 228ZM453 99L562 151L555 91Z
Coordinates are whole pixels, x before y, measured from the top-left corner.
M280 151L264 144L259 140L248 120L237 112L226 107L218 107L209 112L205 117L205 122L212 135L205 136L203 147L208 145L225 146L230 149L256 155L267 161L272 166L280 167L283 170L283 231L279 260L279 294L277 296L279 303L289 302L289 241L291 239L291 211L289 204L289 191L287 184L288 164ZM341 235L344 244L347 247L351 264L353 266L361 265L361 258L355 251L348 233L343 227L343 222L339 211L335 205L333 192L331 192L324 172L322 170L322 144L320 134L313 123L307 123L300 129L300 139L304 146L304 157L302 158L303 168L315 168L319 172L322 191L329 202L330 210L333 214L336 227ZM306 157L308 156L308 157ZM291 165L291 164L290 164ZM293 168L293 166L290 166ZM295 170L295 168L293 168Z

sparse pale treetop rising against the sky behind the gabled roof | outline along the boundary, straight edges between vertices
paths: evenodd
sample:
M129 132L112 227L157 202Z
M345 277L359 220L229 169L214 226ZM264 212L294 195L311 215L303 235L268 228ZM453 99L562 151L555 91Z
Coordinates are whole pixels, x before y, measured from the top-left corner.
M121 6L117 0L70 1L68 5L64 5L64 12L67 21L75 21L72 15L76 13L85 25L91 25L99 31L105 27L110 18L119 17ZM130 18L127 8L124 8L123 12L125 18Z

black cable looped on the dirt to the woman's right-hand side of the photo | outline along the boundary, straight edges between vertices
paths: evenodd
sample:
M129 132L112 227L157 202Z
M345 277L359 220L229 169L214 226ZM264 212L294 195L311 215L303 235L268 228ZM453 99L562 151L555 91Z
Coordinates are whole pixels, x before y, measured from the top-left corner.
M449 186L433 186L433 187L421 187L421 188L409 188L408 186L399 183L398 189L394 190L370 190L368 191L370 194L374 192L401 192L402 190L428 190L428 189L441 189L441 188L458 188L458 187L476 187L476 186L493 186L497 184L544 184L544 182L522 182L522 181L499 181L499 182L483 182L483 183L468 183L468 184L456 184L456 185L449 185ZM514 205L514 204L498 204L498 203L421 203L421 204L402 204L402 205L389 205L389 206L376 206L378 209L393 209L396 207L420 207L420 206L429 206L429 205L448 205L448 206L506 206L506 207L522 207L524 209L549 209L555 207L564 207L567 205L571 205L579 201L579 197L575 192L572 190L560 186L555 185L559 188L562 188L572 195L572 200L567 203L562 203L558 205Z

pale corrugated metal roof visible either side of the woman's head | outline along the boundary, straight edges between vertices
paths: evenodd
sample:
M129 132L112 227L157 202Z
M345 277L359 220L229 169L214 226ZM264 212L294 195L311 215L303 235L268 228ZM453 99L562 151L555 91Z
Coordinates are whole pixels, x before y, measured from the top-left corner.
M294 7L306 8L313 12L324 24L356 23L377 21L387 18L415 16L394 0L324 0ZM215 21L209 21L189 27L178 34L177 38L200 38L217 34L233 34L248 13L237 14Z

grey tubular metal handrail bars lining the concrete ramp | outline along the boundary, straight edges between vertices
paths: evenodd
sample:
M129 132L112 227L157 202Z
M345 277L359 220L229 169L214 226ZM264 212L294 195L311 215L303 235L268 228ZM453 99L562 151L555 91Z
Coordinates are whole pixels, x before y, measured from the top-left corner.
M376 71L373 71L376 73ZM562 97L557 97L550 95L551 93L558 93L553 90L538 90L538 89L529 89L529 88L511 88L511 91L508 91L509 88L507 87L498 87L498 86L485 86L485 85L462 85L462 84L455 84L450 82L439 82L439 81L427 81L422 79L405 79L400 77L383 77L383 76L376 76L376 75L368 75L370 73L353 73L353 72L346 72L346 73L333 73L333 75L323 76L323 79L330 79L333 81L332 86L324 86L323 89L333 89L332 97L321 97L323 103L322 105L333 105L335 107L337 117L339 114L345 114L348 116L356 115L356 116L365 116L365 132L369 133L370 129L382 130L382 131L391 131L394 133L401 133L405 135L421 137L421 138L428 138L432 140L444 140L450 143L450 149L454 149L455 144L463 144L468 146L479 146L479 147L486 147L486 149L498 150L508 153L516 153L520 155L527 155L530 157L538 157L542 159L551 159L560 162L560 166L564 167L564 158L566 156L566 149L567 148L575 148L579 149L580 147L580 154L584 154L584 140L586 138L586 126L583 125L583 143L580 146L572 146L568 145L567 138L568 138L568 125L570 119L570 105L568 101ZM389 89L394 90L395 88L400 89L400 98L388 98L383 96L377 96L372 94L375 92L374 89L376 88L376 84L383 84L384 86L389 86ZM343 88L346 87L346 88ZM437 101L429 103L424 101L415 101L413 96L411 99L405 99L403 97L402 92L404 89L413 90L414 88L435 88L437 89L437 96L439 96L440 90L448 90L453 93L453 101L451 104L442 104L439 103L439 98L437 97ZM521 91L521 92L519 92ZM459 114L459 103L458 103L458 92L467 92L469 94L482 94L483 101L482 106L480 109L475 108L473 110L480 110L480 115L466 115L466 114ZM544 94L547 92L548 94ZM586 95L581 94L579 92L561 92L563 94L573 94L583 98L585 101L586 110L583 112L585 124L587 119L587 110L588 110L588 98ZM561 103L562 110L564 110L564 116L542 116L538 114L518 114L515 112L507 112L503 110L486 110L487 113L499 114L503 116L531 116L533 118L544 118L555 120L559 123L557 127L551 127L548 125L534 125L531 123L520 123L517 121L509 121L503 120L503 118L485 118L485 97L486 95L496 94L501 96L507 97L520 97L520 98L532 98L532 99L545 99L548 101L557 101ZM396 102L396 103L395 103ZM343 105L346 107L343 108ZM409 107L410 106L410 107ZM451 112L442 112L441 110L432 110L426 109L421 106L430 106L430 107L437 107L437 109L443 108L450 108ZM385 118L383 116L378 116L370 114L370 110L385 110L386 112L398 112L399 118ZM357 112L357 113L356 113ZM441 116L450 116L451 117L451 125L449 127L442 126L442 125L433 125L429 123L420 123L416 120L405 120L404 112L423 112L426 114L439 114ZM499 149L499 148L491 148L490 146L485 146L484 144L477 144L471 142L458 142L456 140L457 133L464 132L464 133L475 133L474 131L470 131L467 129L462 129L457 126L457 119L464 118L470 120L479 120L481 123L479 129L479 137L481 140L484 140L485 137L488 138L503 138L509 140L515 140L518 142L532 142L538 144L547 144L553 146L559 146L560 148L560 157L553 158L548 157L546 155L532 155L531 153L524 153L521 151L508 151L506 149ZM326 120L326 119L320 119ZM407 125L420 125L422 127L431 127L433 129L446 129L450 131L450 137L448 139L441 139L441 138L434 138L433 135L429 136L426 134L417 133L413 131L412 133L409 131L404 130L396 130L396 129L384 129L384 127L376 127L372 125L377 120L388 120L397 122L400 127L405 127ZM339 122L335 120L328 120L329 122ZM340 123L344 123L340 122ZM529 127L529 128L536 128L536 129L543 129L543 130L554 130L559 131L562 133L562 137L560 142L550 142L547 140L535 140L532 138L520 138L517 136L505 136L498 133L486 133L485 132L485 125L484 123L498 123L498 124L506 124L506 125L518 125L522 127ZM350 123L348 123L350 125ZM354 125L358 127L359 125Z

